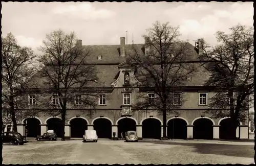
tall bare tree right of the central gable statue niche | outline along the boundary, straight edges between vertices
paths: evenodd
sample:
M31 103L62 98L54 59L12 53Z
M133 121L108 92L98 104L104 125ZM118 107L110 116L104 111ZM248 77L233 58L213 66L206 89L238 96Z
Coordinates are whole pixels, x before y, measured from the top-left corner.
M166 139L166 114L178 114L175 109L183 100L182 92L175 91L176 87L184 85L187 77L196 70L194 64L184 63L189 59L190 51L188 43L179 40L179 36L179 27L170 27L168 22L161 24L156 21L144 36L147 37L147 55L141 55L134 49L135 53L127 58L127 63L137 66L139 86L144 91L139 95L133 109L146 111L151 108L163 115L161 139ZM153 101L146 96L146 91L156 94Z

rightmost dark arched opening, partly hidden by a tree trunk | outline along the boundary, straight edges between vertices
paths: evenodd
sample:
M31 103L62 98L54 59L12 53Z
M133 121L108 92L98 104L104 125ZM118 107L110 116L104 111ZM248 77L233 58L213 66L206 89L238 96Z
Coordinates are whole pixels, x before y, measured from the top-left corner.
M231 128L231 118L225 118L220 122L220 139L233 139L234 136L237 134L236 131L230 130ZM237 128L239 126L239 121L237 121ZM235 132L235 133L232 133Z

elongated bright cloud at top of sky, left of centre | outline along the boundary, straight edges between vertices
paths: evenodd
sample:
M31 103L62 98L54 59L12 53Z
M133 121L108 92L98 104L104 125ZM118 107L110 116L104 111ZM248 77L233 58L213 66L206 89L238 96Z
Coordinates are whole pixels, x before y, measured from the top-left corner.
M75 5L61 4L53 8L52 12L54 14L68 15L86 20L104 19L115 16L113 11L106 9L95 9L89 3L76 3Z

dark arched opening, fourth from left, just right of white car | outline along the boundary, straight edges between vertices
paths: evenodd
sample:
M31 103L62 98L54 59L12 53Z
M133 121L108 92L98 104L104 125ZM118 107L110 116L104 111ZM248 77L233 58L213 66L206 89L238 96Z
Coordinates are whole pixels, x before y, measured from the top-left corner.
M98 138L111 138L112 127L110 120L106 118L98 118L93 122L94 130L97 131Z

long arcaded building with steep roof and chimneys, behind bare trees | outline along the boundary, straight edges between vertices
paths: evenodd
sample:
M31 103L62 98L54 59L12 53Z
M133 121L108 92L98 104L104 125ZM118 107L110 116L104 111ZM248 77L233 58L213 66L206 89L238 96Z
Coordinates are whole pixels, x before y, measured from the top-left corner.
M145 38L145 42L146 42ZM189 44L189 43L188 43ZM81 40L77 41L81 45ZM141 54L147 54L148 48L145 44L133 44ZM191 56L197 57L195 47L189 44ZM134 111L132 106L137 100L139 88L129 89L126 84L138 82L134 68L126 64L125 56L129 53L131 45L125 44L125 38L120 38L120 45L90 45L91 56L88 63L94 64L97 69L100 86L103 89L98 96L98 106L93 114L84 110L81 104L82 96L77 96L74 106L70 106L67 112L65 125L65 136L81 138L84 130L95 129L99 138L121 137L127 130L136 130L139 138L156 138L163 136L163 119L157 110ZM181 102L179 96L175 103L179 105L179 115L167 115L167 136L176 139L226 139L230 135L228 130L229 117L212 119L204 111L210 109L208 104L215 92L205 87L204 82L209 74L200 67L199 72L187 78L186 86L182 87L185 100ZM40 80L34 79L38 87ZM27 110L35 109L36 96L40 94L27 94L25 102L28 101ZM154 93L148 92L148 98L154 98ZM40 98L39 98L40 99ZM57 97L49 94L47 98L51 104L56 104ZM51 111L51 110L49 110ZM59 116L38 115L24 118L18 123L18 132L28 137L35 137L47 130L53 129L58 136ZM25 125L26 124L26 125ZM25 128L26 126L26 128ZM237 137L248 138L248 122L239 122Z

